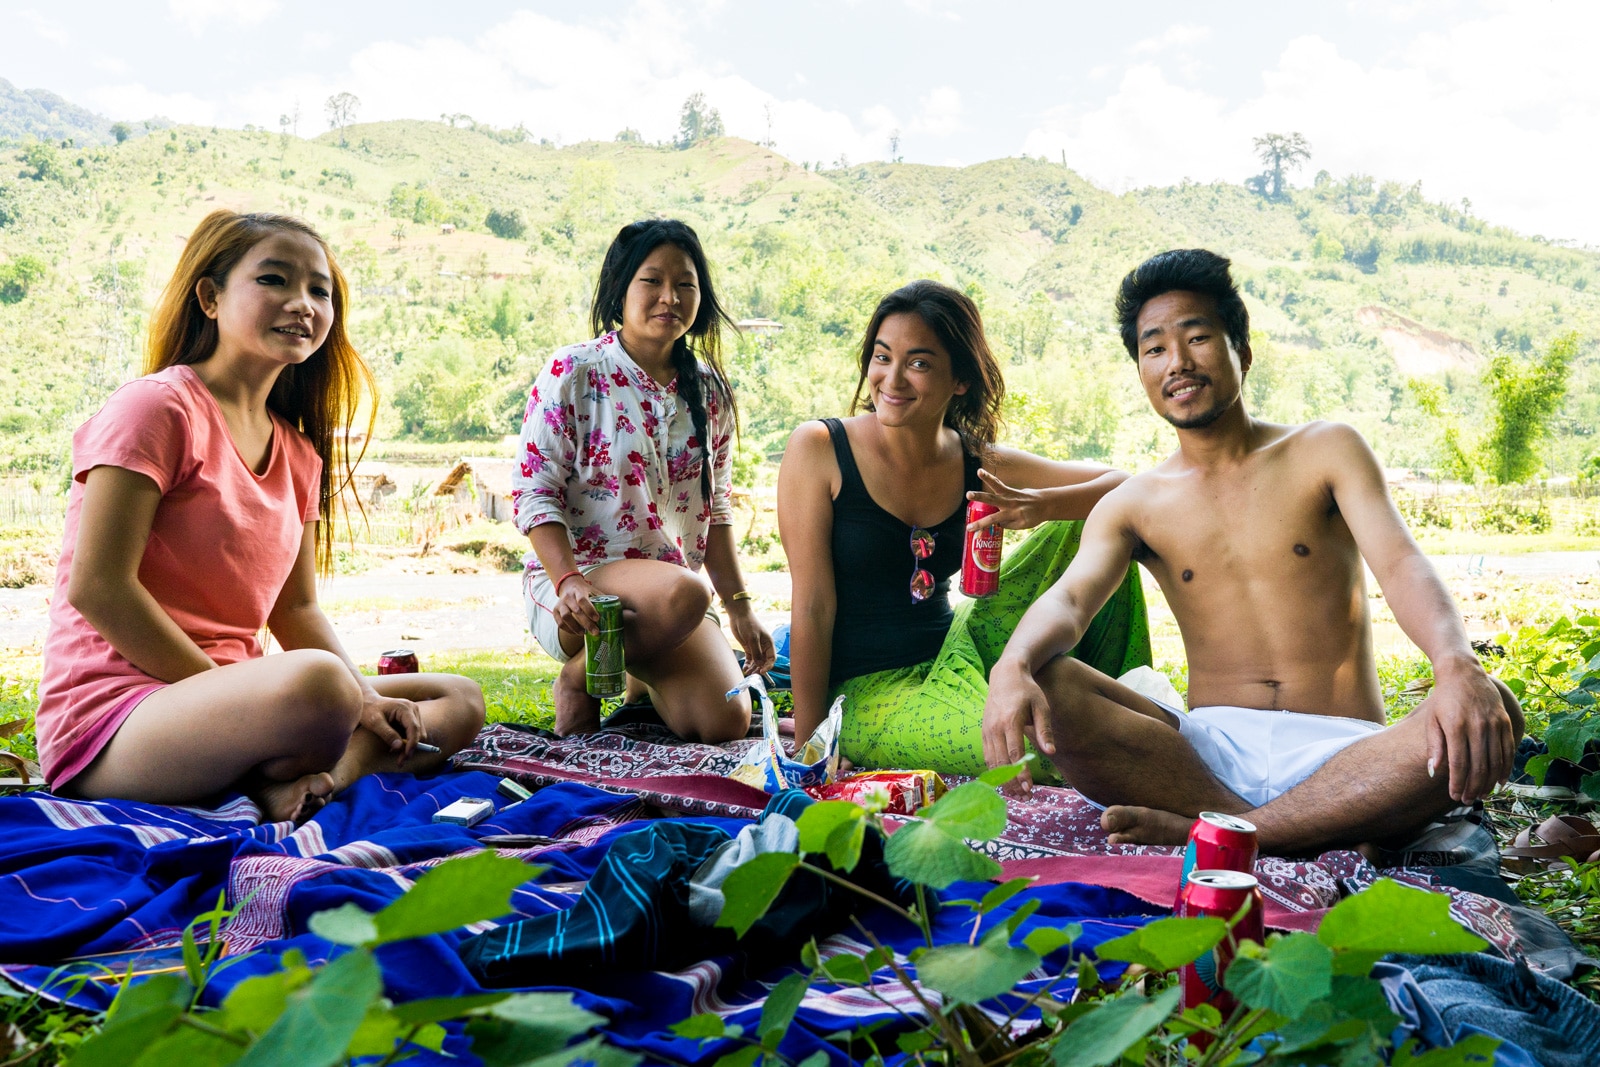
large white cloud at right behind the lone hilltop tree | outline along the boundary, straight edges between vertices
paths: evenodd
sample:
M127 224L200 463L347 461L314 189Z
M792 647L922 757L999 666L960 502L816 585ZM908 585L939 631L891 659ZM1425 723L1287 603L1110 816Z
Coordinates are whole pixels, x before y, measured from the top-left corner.
M1494 5L1374 62L1299 37L1262 72L1259 93L1235 104L1138 62L1099 106L1046 114L1022 150L1066 149L1106 182L1240 181L1259 170L1251 138L1299 131L1312 171L1419 179L1430 198L1467 197L1486 219L1600 243L1600 83L1587 54L1597 34L1600 8L1557 0Z

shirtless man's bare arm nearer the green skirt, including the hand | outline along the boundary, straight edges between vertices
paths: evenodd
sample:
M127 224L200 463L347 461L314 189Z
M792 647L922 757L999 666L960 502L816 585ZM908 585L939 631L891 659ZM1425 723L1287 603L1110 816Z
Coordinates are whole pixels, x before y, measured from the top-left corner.
M1094 613L1106 606L1128 573L1136 544L1126 512L1136 496L1128 490L1131 485L1107 493L1090 514L1083 542L1067 573L1027 609L989 672L989 699L984 702L984 761L989 766L1021 760L1026 753L1024 736L1042 753L1054 753L1050 701L1035 675L1051 659L1077 646Z

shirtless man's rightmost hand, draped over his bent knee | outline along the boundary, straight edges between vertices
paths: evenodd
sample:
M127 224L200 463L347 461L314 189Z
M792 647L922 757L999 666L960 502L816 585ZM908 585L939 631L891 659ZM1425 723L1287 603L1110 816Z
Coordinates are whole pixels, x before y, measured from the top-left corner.
M1510 776L1517 731L1499 686L1477 659L1435 669L1434 691L1418 705L1427 721L1427 773L1450 773L1450 798L1472 803Z

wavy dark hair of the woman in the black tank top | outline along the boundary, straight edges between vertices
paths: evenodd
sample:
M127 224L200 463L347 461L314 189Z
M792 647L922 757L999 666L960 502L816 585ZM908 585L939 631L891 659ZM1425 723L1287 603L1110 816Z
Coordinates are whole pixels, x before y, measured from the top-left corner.
M926 278L902 285L882 301L872 312L867 333L861 338L861 378L850 402L850 413L872 411L866 395L867 368L872 366L872 349L878 341L878 328L890 315L914 314L933 331L950 354L950 373L955 381L966 382L966 392L950 397L944 410L944 424L962 435L966 451L984 454L994 448L1000 434L1000 403L1005 400L1005 378L1000 363L989 350L984 338L984 317L970 296L939 282Z

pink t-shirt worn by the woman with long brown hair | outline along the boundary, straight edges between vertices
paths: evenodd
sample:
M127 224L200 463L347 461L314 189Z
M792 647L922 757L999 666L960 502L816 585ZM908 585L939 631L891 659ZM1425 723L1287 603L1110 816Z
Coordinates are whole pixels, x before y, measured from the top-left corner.
M102 720L130 712L130 694L162 685L67 603L83 480L93 467L123 467L162 490L139 584L218 664L261 656L258 635L294 568L306 523L318 517L322 458L310 440L274 414L267 469L254 474L187 366L128 382L78 427L35 717L38 761L53 785L110 741L115 729ZM85 752L86 739L99 744Z

